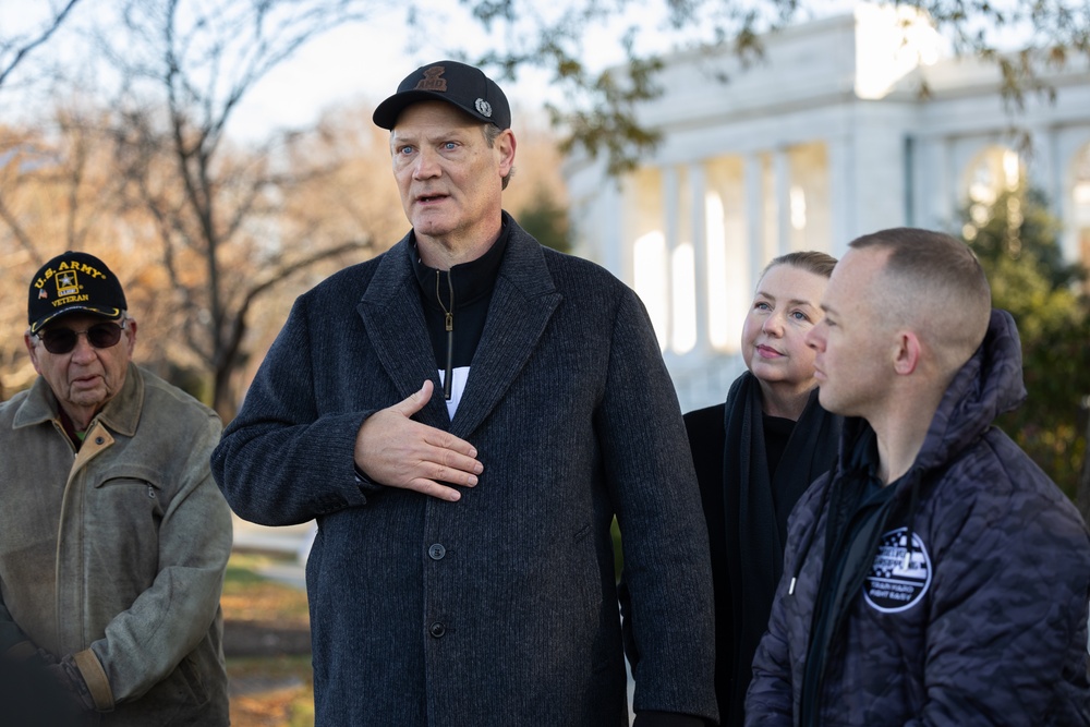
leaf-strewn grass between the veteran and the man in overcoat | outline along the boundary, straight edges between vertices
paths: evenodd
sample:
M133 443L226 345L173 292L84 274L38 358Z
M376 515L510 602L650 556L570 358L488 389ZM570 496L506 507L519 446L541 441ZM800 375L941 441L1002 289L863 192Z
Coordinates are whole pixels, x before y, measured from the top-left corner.
M233 625L310 627L306 594L262 575L270 556L234 554L223 582L225 630ZM233 727L313 727L314 693L308 654L228 656Z

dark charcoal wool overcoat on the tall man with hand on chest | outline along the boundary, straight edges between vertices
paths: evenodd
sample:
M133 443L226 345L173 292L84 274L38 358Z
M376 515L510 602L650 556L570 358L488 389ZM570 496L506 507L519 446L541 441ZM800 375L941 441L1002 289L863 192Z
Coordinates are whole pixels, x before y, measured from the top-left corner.
M601 267L510 240L450 421L410 238L300 296L213 471L243 518L316 518L306 569L316 723L628 725L609 534L639 652L635 710L714 718L707 535L646 312ZM361 483L362 423L415 419L484 473L447 502Z

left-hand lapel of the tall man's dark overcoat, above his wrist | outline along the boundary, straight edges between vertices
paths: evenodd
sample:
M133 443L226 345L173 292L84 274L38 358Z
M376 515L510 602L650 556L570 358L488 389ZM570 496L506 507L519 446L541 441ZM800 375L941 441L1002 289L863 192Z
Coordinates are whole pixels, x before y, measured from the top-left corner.
M420 389L425 379L435 384L432 400L414 419L446 429L450 425L427 337L420 293L412 276L409 237L391 247L375 270L356 306L375 355L393 380L400 399ZM399 399L399 400L400 400ZM397 402L390 402L393 404Z

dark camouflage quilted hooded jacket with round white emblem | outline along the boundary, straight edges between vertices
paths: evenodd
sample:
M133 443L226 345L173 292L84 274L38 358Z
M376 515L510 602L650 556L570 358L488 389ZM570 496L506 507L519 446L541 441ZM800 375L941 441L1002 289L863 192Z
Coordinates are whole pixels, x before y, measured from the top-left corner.
M825 545L831 506L858 484L850 455L871 433L862 420L845 422L836 469L791 514L747 725L1090 724L1090 534L1064 494L992 426L1024 398L1018 332L995 311L915 463L888 485L861 585L831 599L827 645L811 649L827 558L844 560L845 573L853 567L849 549ZM821 662L810 673L808 657ZM803 675L820 680L807 713Z

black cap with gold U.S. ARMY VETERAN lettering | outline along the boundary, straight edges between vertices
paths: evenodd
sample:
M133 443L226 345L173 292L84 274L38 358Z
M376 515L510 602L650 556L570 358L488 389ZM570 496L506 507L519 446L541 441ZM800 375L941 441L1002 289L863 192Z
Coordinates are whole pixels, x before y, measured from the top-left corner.
M69 251L41 266L26 303L31 332L69 313L117 320L129 308L118 276L94 255Z

